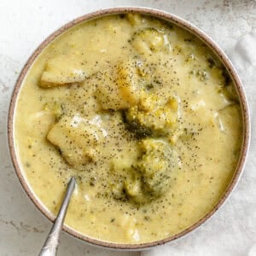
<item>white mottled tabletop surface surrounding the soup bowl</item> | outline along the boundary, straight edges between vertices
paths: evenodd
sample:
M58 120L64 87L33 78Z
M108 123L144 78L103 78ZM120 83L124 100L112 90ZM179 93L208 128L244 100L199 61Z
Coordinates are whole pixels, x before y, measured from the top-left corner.
M178 3L177 3L178 2ZM0 255L37 255L50 223L21 189L9 160L6 138L9 99L21 67L49 33L73 18L90 11L137 5L163 9L191 21L207 32L226 51L238 38L256 27L254 0L203 1L84 1L84 0L0 0ZM250 54L247 55L250 57ZM254 59L255 60L255 59ZM255 65L255 62L254 62ZM255 73L241 67L248 100L255 115ZM254 107L254 108L253 108ZM172 255L255 256L256 242L256 119L253 117L251 152L241 182L217 214L190 236L175 241ZM154 255L170 255L160 247ZM250 249L251 248L251 249ZM251 254L248 254L251 251ZM139 253L127 253L127 255ZM146 255L147 253L144 253ZM58 255L126 255L90 247L67 234L61 236Z

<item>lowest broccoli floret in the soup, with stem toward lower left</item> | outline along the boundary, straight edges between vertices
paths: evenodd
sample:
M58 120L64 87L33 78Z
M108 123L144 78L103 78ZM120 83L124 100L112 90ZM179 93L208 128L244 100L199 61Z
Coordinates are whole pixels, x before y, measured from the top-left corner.
M177 154L171 146L152 138L138 143L139 156L128 166L114 169L113 198L142 205L163 195L177 168Z

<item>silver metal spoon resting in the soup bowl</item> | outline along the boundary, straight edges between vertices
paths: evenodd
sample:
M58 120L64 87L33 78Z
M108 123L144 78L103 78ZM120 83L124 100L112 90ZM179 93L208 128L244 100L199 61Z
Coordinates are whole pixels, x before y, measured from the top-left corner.
M67 207L69 205L69 201L71 199L71 195L73 194L73 189L75 187L76 180L72 177L67 184L67 192L62 201L62 205L60 211L58 212L57 218L55 219L55 223L53 224L51 230L49 231L49 235L47 236L46 241L44 242L44 246L42 247L41 252L38 256L55 256L57 253L57 248L59 245L59 240L61 236L61 228L67 213Z

